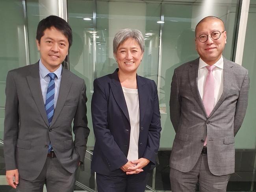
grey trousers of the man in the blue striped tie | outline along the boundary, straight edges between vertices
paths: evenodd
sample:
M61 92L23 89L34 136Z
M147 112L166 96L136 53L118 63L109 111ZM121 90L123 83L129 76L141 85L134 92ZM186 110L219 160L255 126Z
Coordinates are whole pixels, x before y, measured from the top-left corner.
M75 173L70 174L62 168L56 157L46 158L45 165L39 176L33 181L19 178L19 185L16 191L43 192L45 184L47 192L73 192L76 181Z

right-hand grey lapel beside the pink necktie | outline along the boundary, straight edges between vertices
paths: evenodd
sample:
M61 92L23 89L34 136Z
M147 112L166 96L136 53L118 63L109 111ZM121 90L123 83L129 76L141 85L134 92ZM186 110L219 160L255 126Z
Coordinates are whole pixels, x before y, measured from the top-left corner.
M224 81L224 83L223 83L224 84L223 85L223 93L221 94L221 98L219 99L219 101L216 103L215 107L211 111L211 114L209 115L209 117L221 106L221 103L223 103L223 101L228 96L228 92L230 90L232 79L234 79L234 72L232 70L233 64L228 62L228 60L225 59L224 57L223 57L223 59L224 59L224 65L223 65L223 81Z

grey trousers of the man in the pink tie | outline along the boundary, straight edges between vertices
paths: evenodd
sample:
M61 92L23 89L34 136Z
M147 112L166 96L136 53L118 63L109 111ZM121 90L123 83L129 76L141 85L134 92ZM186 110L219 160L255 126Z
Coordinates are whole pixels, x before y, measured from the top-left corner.
M195 192L199 183L200 192L226 192L230 175L211 174L207 154L201 154L195 167L187 173L171 168L170 181L172 192Z

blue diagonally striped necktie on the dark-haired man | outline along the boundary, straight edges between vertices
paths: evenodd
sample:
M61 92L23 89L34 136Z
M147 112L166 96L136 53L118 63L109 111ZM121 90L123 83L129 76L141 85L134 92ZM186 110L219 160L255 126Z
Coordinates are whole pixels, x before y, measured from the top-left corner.
M56 78L55 73L49 73L48 76L50 77L50 82L48 84L47 88L47 94L46 94L46 101L45 101L45 110L48 118L49 125L52 122L52 117L54 114L54 78ZM52 144L50 142L48 147L48 152L52 151Z

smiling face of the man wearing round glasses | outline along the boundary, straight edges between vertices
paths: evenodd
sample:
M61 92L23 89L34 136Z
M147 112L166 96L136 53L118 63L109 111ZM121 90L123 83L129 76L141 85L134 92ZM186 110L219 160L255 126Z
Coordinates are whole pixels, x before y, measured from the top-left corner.
M195 31L196 37L199 37L201 34L208 35L206 42L200 42L198 38L195 39L196 50L200 58L208 65L213 65L221 58L226 44L226 31L216 40L210 37L213 31L224 31L224 24L221 20L209 18L200 23Z

